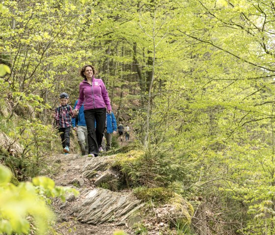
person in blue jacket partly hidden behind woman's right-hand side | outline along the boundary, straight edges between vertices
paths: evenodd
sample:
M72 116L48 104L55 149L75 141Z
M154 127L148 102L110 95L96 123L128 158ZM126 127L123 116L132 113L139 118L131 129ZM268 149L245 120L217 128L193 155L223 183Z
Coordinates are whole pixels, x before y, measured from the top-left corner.
M116 125L117 125L116 119L113 112L106 113L106 126L104 131L104 137L106 139L106 151L109 151L111 149L112 134L116 134L116 129L117 129ZM103 142L103 145L104 144L105 143Z

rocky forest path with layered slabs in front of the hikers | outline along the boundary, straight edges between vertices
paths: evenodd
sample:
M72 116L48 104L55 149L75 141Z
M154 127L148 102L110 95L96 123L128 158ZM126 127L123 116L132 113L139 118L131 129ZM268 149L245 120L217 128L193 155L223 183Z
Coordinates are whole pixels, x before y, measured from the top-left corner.
M97 187L106 181L119 178L110 169L113 156L87 157L79 154L55 155L49 162L56 185L75 187L80 195L67 195L66 201L54 200L57 214L55 229L62 235L112 235L123 230L135 233L128 227L135 221L132 214L142 207L130 190L113 192ZM113 178L113 179L112 179ZM130 218L130 220L129 220Z

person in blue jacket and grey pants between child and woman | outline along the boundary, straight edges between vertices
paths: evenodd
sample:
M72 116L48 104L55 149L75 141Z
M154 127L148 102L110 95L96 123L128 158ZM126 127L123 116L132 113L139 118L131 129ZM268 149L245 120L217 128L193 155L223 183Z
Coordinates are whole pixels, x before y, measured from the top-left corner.
M75 103L75 107L77 104L78 104L78 100ZM72 118L72 126L73 126L73 129L77 131L78 144L80 146L82 155L87 155L88 154L88 132L87 132L87 126L84 118L83 105L79 109L77 117Z

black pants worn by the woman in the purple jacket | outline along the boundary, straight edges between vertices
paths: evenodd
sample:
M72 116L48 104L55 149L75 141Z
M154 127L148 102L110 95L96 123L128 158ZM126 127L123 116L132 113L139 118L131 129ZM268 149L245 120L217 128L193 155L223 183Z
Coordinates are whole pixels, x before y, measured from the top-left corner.
M84 117L88 131L89 154L97 156L99 153L98 148L101 147L102 144L105 129L106 108L84 110Z

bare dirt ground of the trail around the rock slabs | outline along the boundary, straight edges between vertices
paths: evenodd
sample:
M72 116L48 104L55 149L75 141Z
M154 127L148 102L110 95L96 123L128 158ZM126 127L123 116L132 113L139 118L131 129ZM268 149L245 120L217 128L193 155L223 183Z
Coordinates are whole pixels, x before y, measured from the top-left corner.
M93 190L96 185L92 179L84 179L82 175L83 166L87 164L87 161L93 161L90 157L81 156L79 154L70 154L64 156L63 154L57 154L51 157L50 167L53 168L53 173L50 175L56 185L58 186L71 186L74 187L74 179L82 179L85 190ZM97 159L103 157L96 157ZM78 189L78 188L77 188ZM71 209L83 199L82 193L75 200L66 200L65 203L59 199L54 200L53 206L57 216L57 223L55 230L61 235L112 235L115 231L124 231L128 235L134 235L135 233L125 224L118 226L115 223L103 223L99 225L92 225L87 223L81 223L76 220L76 216L71 215Z

